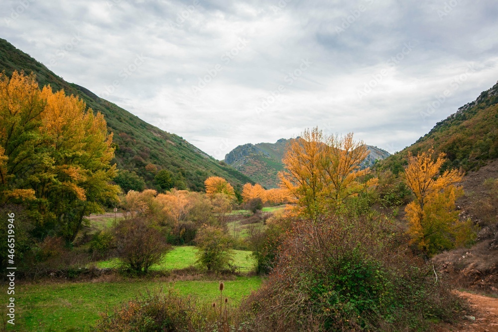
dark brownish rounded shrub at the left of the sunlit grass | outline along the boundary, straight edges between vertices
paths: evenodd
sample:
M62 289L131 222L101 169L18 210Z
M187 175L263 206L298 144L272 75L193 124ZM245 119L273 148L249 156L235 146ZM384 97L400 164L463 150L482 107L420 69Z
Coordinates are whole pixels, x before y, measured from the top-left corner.
M115 226L116 252L124 266L147 273L171 248L159 229L144 217L125 218Z

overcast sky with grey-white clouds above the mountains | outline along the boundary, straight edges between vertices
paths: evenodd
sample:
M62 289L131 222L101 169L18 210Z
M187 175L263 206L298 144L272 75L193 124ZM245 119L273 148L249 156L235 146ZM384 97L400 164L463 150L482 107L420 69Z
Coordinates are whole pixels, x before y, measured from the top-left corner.
M0 31L217 159L347 133L389 152L498 80L495 0L2 0Z

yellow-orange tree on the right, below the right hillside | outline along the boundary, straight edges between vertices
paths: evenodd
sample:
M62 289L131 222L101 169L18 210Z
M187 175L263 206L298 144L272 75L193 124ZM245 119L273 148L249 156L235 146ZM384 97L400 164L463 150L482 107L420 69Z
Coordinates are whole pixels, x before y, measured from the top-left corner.
M427 256L467 244L475 235L472 222L460 221L455 210L455 200L463 194L456 186L462 172L453 169L441 173L445 154L440 153L436 161L433 155L432 148L417 156L408 153L404 172L406 184L415 195L405 208L408 234Z

